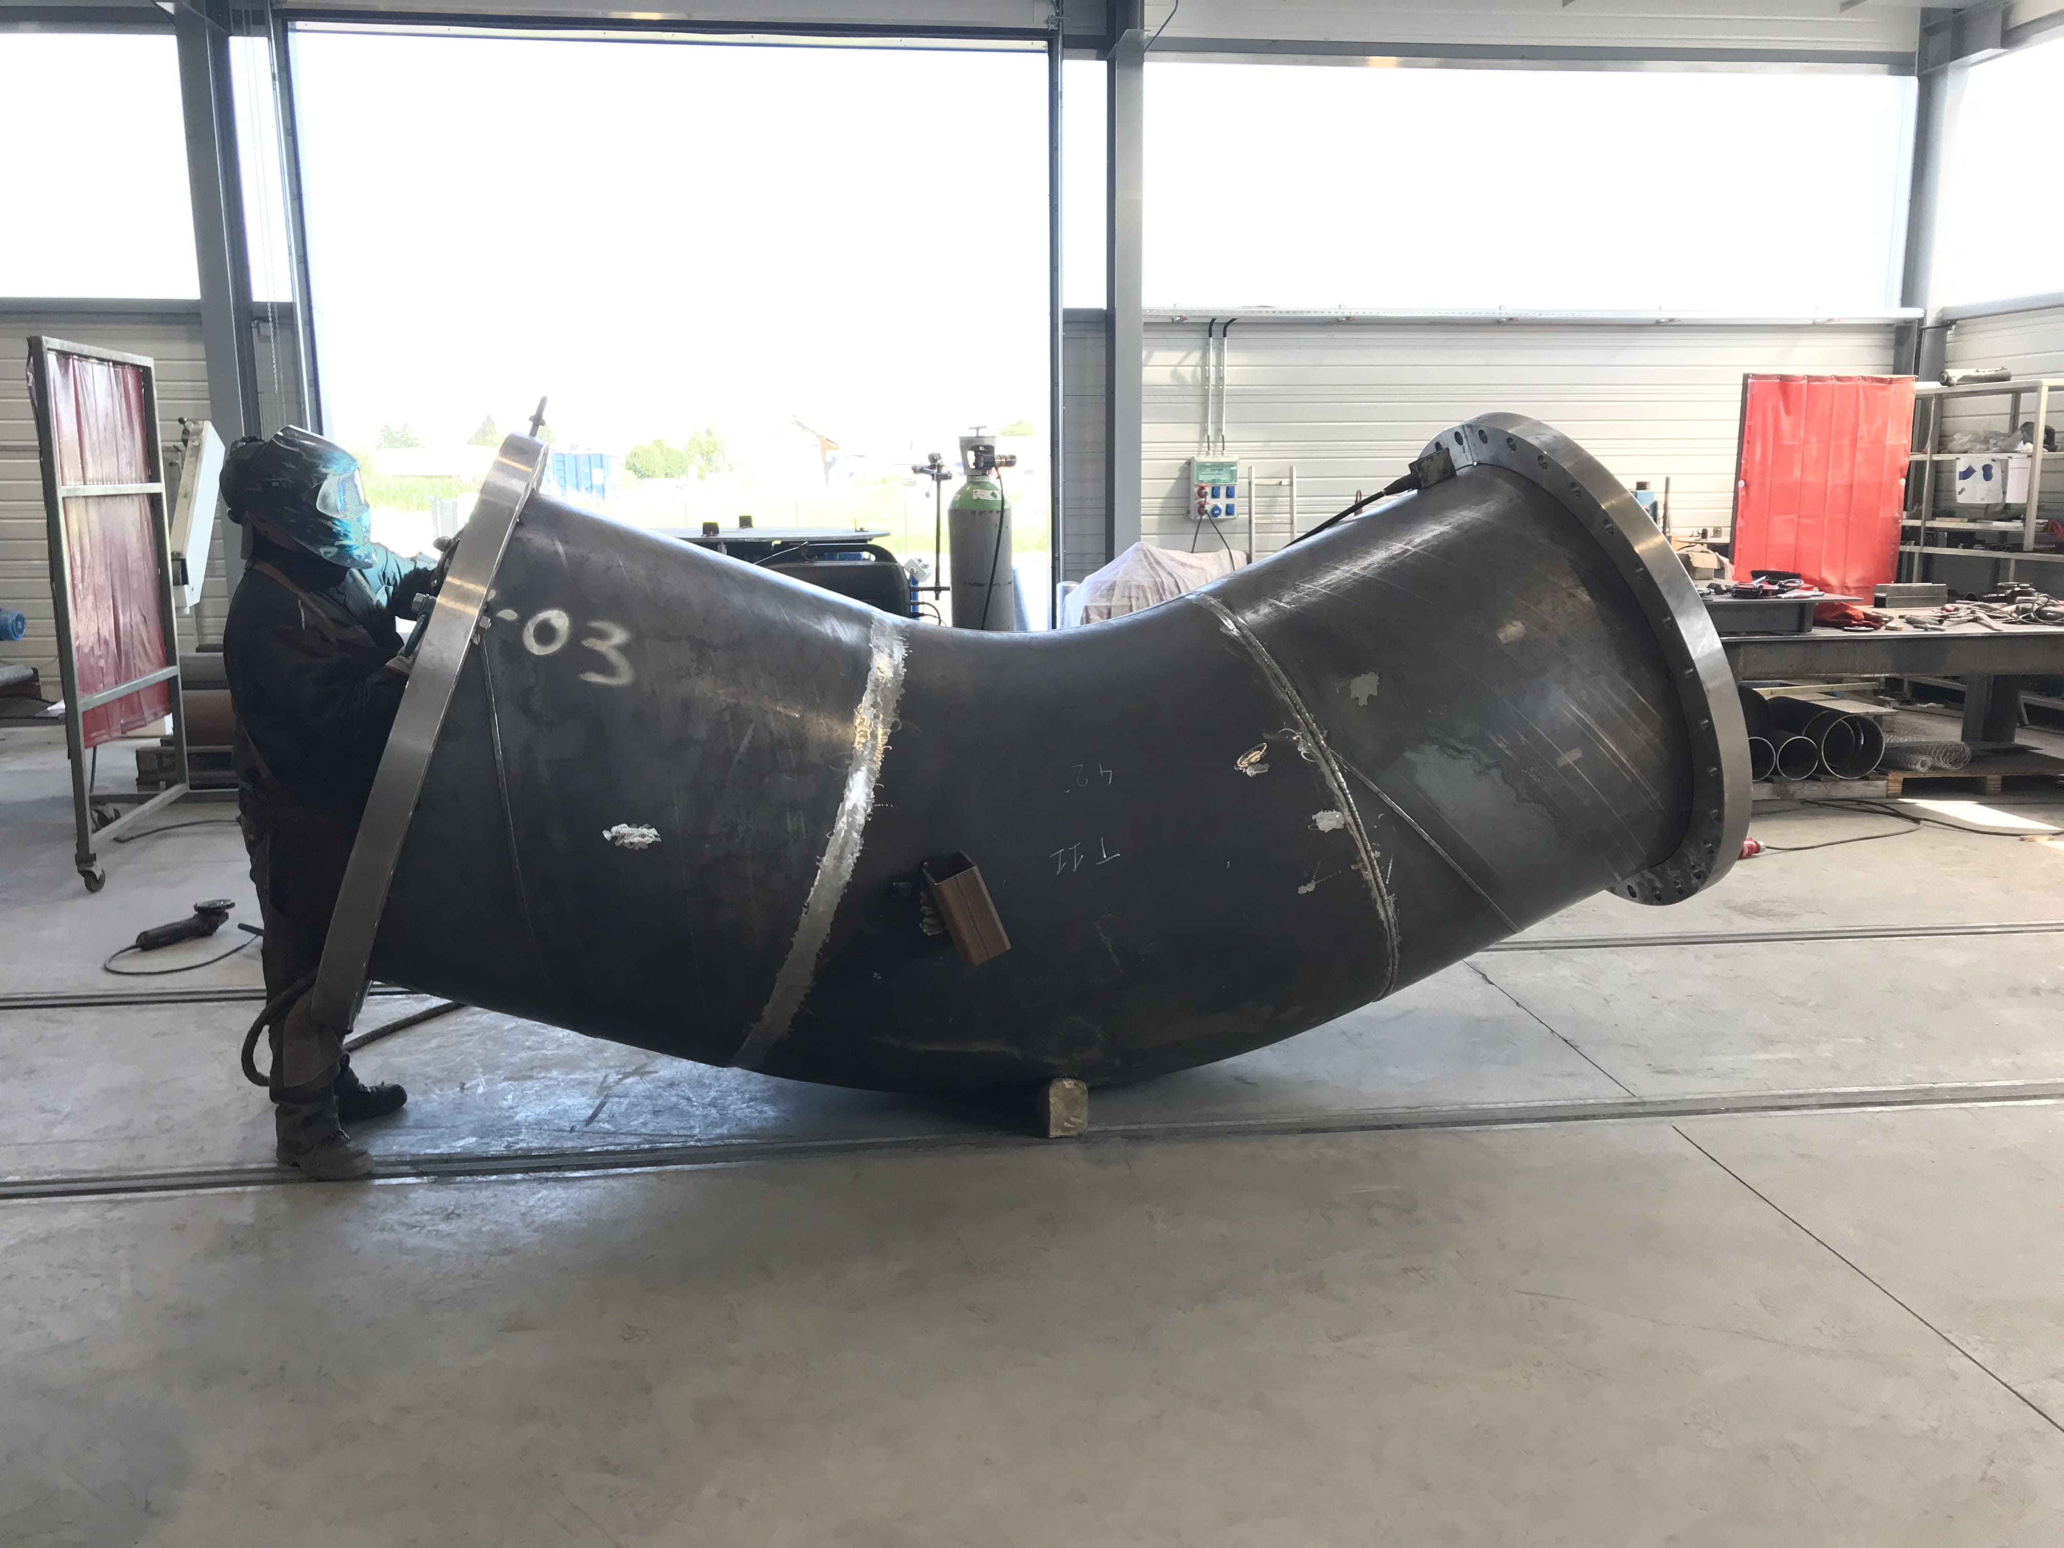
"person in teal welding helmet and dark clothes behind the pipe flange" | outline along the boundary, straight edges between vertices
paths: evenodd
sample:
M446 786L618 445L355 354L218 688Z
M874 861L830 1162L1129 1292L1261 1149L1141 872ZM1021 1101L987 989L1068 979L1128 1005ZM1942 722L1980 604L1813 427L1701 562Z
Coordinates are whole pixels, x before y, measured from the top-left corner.
M308 429L237 442L223 462L223 502L252 530L223 669L266 997L301 985L270 1028L277 1154L318 1181L367 1176L372 1158L345 1125L386 1117L409 1096L359 1079L338 1034L316 1024L308 989L409 685L396 619L413 619L436 570L372 541L357 458Z

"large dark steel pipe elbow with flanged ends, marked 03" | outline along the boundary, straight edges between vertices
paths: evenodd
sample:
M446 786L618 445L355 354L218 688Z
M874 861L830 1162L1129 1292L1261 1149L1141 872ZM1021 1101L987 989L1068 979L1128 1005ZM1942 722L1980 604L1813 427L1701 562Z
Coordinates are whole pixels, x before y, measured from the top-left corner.
M512 436L316 1013L376 974L797 1079L1112 1082L1711 885L1748 749L1668 543L1546 425L1434 446L1447 477L1191 596L987 636L537 495ZM927 931L949 854L1009 935L980 966Z

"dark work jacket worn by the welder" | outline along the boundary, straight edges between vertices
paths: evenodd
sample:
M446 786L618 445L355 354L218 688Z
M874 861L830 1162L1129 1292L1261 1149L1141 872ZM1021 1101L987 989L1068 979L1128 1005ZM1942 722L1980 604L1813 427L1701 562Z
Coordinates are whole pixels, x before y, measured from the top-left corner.
M237 720L231 762L246 801L353 821L365 811L409 685L388 667L400 652L388 599L407 572L386 549L359 572L256 541L223 625Z

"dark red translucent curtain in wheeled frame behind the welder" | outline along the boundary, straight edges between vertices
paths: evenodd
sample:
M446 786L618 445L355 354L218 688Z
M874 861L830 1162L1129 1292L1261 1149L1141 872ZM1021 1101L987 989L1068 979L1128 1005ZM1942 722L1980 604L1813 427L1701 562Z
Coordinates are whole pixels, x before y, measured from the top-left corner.
M155 483L142 369L56 349L45 361L58 483ZM171 665L159 611L155 520L151 495L64 502L80 698ZM169 712L171 685L155 683L87 710L80 731L87 747L99 747Z

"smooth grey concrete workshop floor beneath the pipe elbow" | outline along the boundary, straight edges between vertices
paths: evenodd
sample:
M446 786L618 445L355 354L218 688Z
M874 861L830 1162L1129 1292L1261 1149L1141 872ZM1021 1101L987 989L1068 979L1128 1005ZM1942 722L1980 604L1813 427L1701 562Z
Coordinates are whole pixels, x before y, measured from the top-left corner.
M229 826L85 894L43 731L0 854L4 993L252 910ZM2064 921L2064 842L1529 941L1967 921ZM328 1189L250 1005L0 1011L0 1542L2050 1548L2060 1011L2056 933L1496 952L1067 1143L464 1011L363 1055L413 1100Z

